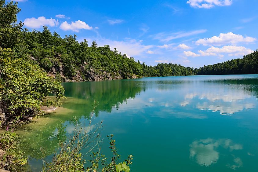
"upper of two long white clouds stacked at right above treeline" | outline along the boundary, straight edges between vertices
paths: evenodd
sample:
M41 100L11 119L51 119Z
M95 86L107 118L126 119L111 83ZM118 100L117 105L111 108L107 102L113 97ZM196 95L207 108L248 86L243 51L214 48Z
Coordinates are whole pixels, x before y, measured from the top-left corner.
M252 38L249 36L242 36L242 35L236 35L232 32L228 32L228 33L221 33L220 36L213 36L211 38L203 38L203 39L199 39L198 41L196 41L195 43L197 45L204 45L204 46L208 46L208 45L217 45L217 46L221 46L221 45L226 45L226 44L236 44L236 43L250 43L250 42L254 42L256 41L256 38Z

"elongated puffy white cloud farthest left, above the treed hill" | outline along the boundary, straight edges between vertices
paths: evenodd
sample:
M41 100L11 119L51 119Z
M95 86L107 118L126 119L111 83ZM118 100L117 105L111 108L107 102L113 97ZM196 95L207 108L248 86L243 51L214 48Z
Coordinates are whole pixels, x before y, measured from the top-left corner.
M48 26L58 26L59 22L56 19L46 19L44 16L38 17L37 19L35 17L27 18L24 20L24 26L30 27L30 28L39 28L44 25Z

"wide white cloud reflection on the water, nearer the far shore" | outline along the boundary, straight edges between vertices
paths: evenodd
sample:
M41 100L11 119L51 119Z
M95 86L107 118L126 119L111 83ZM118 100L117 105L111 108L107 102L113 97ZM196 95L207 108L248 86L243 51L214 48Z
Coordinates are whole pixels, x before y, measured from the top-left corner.
M247 101L251 97L251 94L244 90L224 88L217 89L215 93L212 89L203 89L199 92L187 93L184 97L184 101L181 101L180 106L185 107L194 103L195 108L200 110L220 112L221 115L233 115L244 109L254 108L255 104Z

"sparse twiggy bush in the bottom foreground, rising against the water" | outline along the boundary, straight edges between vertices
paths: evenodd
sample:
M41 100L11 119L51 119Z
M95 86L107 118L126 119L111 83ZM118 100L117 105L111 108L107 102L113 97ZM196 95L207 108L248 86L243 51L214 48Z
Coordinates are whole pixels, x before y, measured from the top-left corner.
M96 108L96 105L93 108ZM113 140L113 134L107 136L110 140L110 146L112 152L112 157L110 161L105 158L104 155L100 155L101 142L100 133L98 129L101 128L102 122L91 125L93 117L93 112L89 119L89 126L82 127L78 124L75 118L74 133L68 141L60 141L59 153L55 153L52 162L45 162L45 167L43 166L43 172L52 171L76 171L76 172L129 172L129 165L132 164L133 156L129 155L124 162L118 163L118 149L116 148L115 140ZM93 128L95 130L91 131ZM82 149L86 153L82 154ZM97 152L94 150L97 149ZM92 154L90 154L90 152ZM44 152L43 152L44 153ZM91 157L89 160L83 159L83 157ZM101 160L100 160L101 159ZM85 163L89 162L89 166L84 168ZM99 165L101 164L101 167Z

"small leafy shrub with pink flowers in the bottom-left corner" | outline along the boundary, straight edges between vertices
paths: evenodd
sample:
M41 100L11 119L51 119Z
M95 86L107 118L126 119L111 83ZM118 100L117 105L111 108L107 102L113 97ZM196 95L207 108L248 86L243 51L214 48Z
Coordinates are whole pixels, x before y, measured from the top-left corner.
M5 151L0 160L0 168L6 170L16 170L27 163L24 152L19 148L20 138L13 131L7 130L0 134L0 149Z

